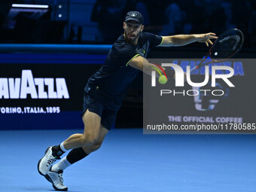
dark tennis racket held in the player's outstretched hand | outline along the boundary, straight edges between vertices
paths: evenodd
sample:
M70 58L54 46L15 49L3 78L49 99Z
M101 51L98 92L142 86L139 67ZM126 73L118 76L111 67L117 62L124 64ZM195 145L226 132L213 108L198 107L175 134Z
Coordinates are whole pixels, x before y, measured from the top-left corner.
M190 72L194 72L195 70L200 69L200 67L212 62L222 62L226 59L230 59L242 49L243 42L244 35L239 29L227 30L226 32L222 33L218 39L216 39L206 54L206 57L200 63L198 63L197 66L194 66ZM210 61L205 62L208 57L210 57Z

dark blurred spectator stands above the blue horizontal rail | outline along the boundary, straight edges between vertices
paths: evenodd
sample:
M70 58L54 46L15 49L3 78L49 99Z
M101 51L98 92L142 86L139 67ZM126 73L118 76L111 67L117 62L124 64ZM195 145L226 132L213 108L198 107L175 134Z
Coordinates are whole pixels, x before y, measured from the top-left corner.
M8 20L13 3L49 5L50 10L42 17L21 11ZM122 34L125 14L131 10L144 15L145 31L158 35L219 35L238 28L245 34L245 48L256 44L253 0L2 0L0 43L112 44Z

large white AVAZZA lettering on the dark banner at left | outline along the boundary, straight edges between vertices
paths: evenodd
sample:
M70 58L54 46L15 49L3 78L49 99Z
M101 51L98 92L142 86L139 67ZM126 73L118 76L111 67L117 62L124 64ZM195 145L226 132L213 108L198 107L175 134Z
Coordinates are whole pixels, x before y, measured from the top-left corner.
M21 78L0 78L0 99L26 99L28 95L32 99L69 99L65 78L33 78L31 70L23 70Z

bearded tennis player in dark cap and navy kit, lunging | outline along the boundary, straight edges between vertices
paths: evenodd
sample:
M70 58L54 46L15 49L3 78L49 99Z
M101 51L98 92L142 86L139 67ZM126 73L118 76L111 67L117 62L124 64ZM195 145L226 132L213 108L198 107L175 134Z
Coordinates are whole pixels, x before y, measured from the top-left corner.
M38 172L53 184L55 190L68 190L62 180L64 169L100 148L128 87L139 71L151 75L154 64L145 59L149 47L182 46L196 41L208 46L212 44L210 39L217 38L214 33L161 37L142 32L143 20L138 11L126 14L123 35L114 42L102 68L88 80L82 114L84 133L74 134L60 145L50 146L38 161ZM53 165L70 149L72 151L66 157Z

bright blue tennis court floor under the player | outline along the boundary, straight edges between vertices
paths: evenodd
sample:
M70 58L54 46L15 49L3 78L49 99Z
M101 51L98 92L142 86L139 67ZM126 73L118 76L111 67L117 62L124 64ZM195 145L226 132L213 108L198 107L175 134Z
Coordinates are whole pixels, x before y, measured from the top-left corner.
M0 191L53 191L37 171L48 145L82 130L1 131ZM64 172L69 191L256 191L255 135L143 135L111 130Z

